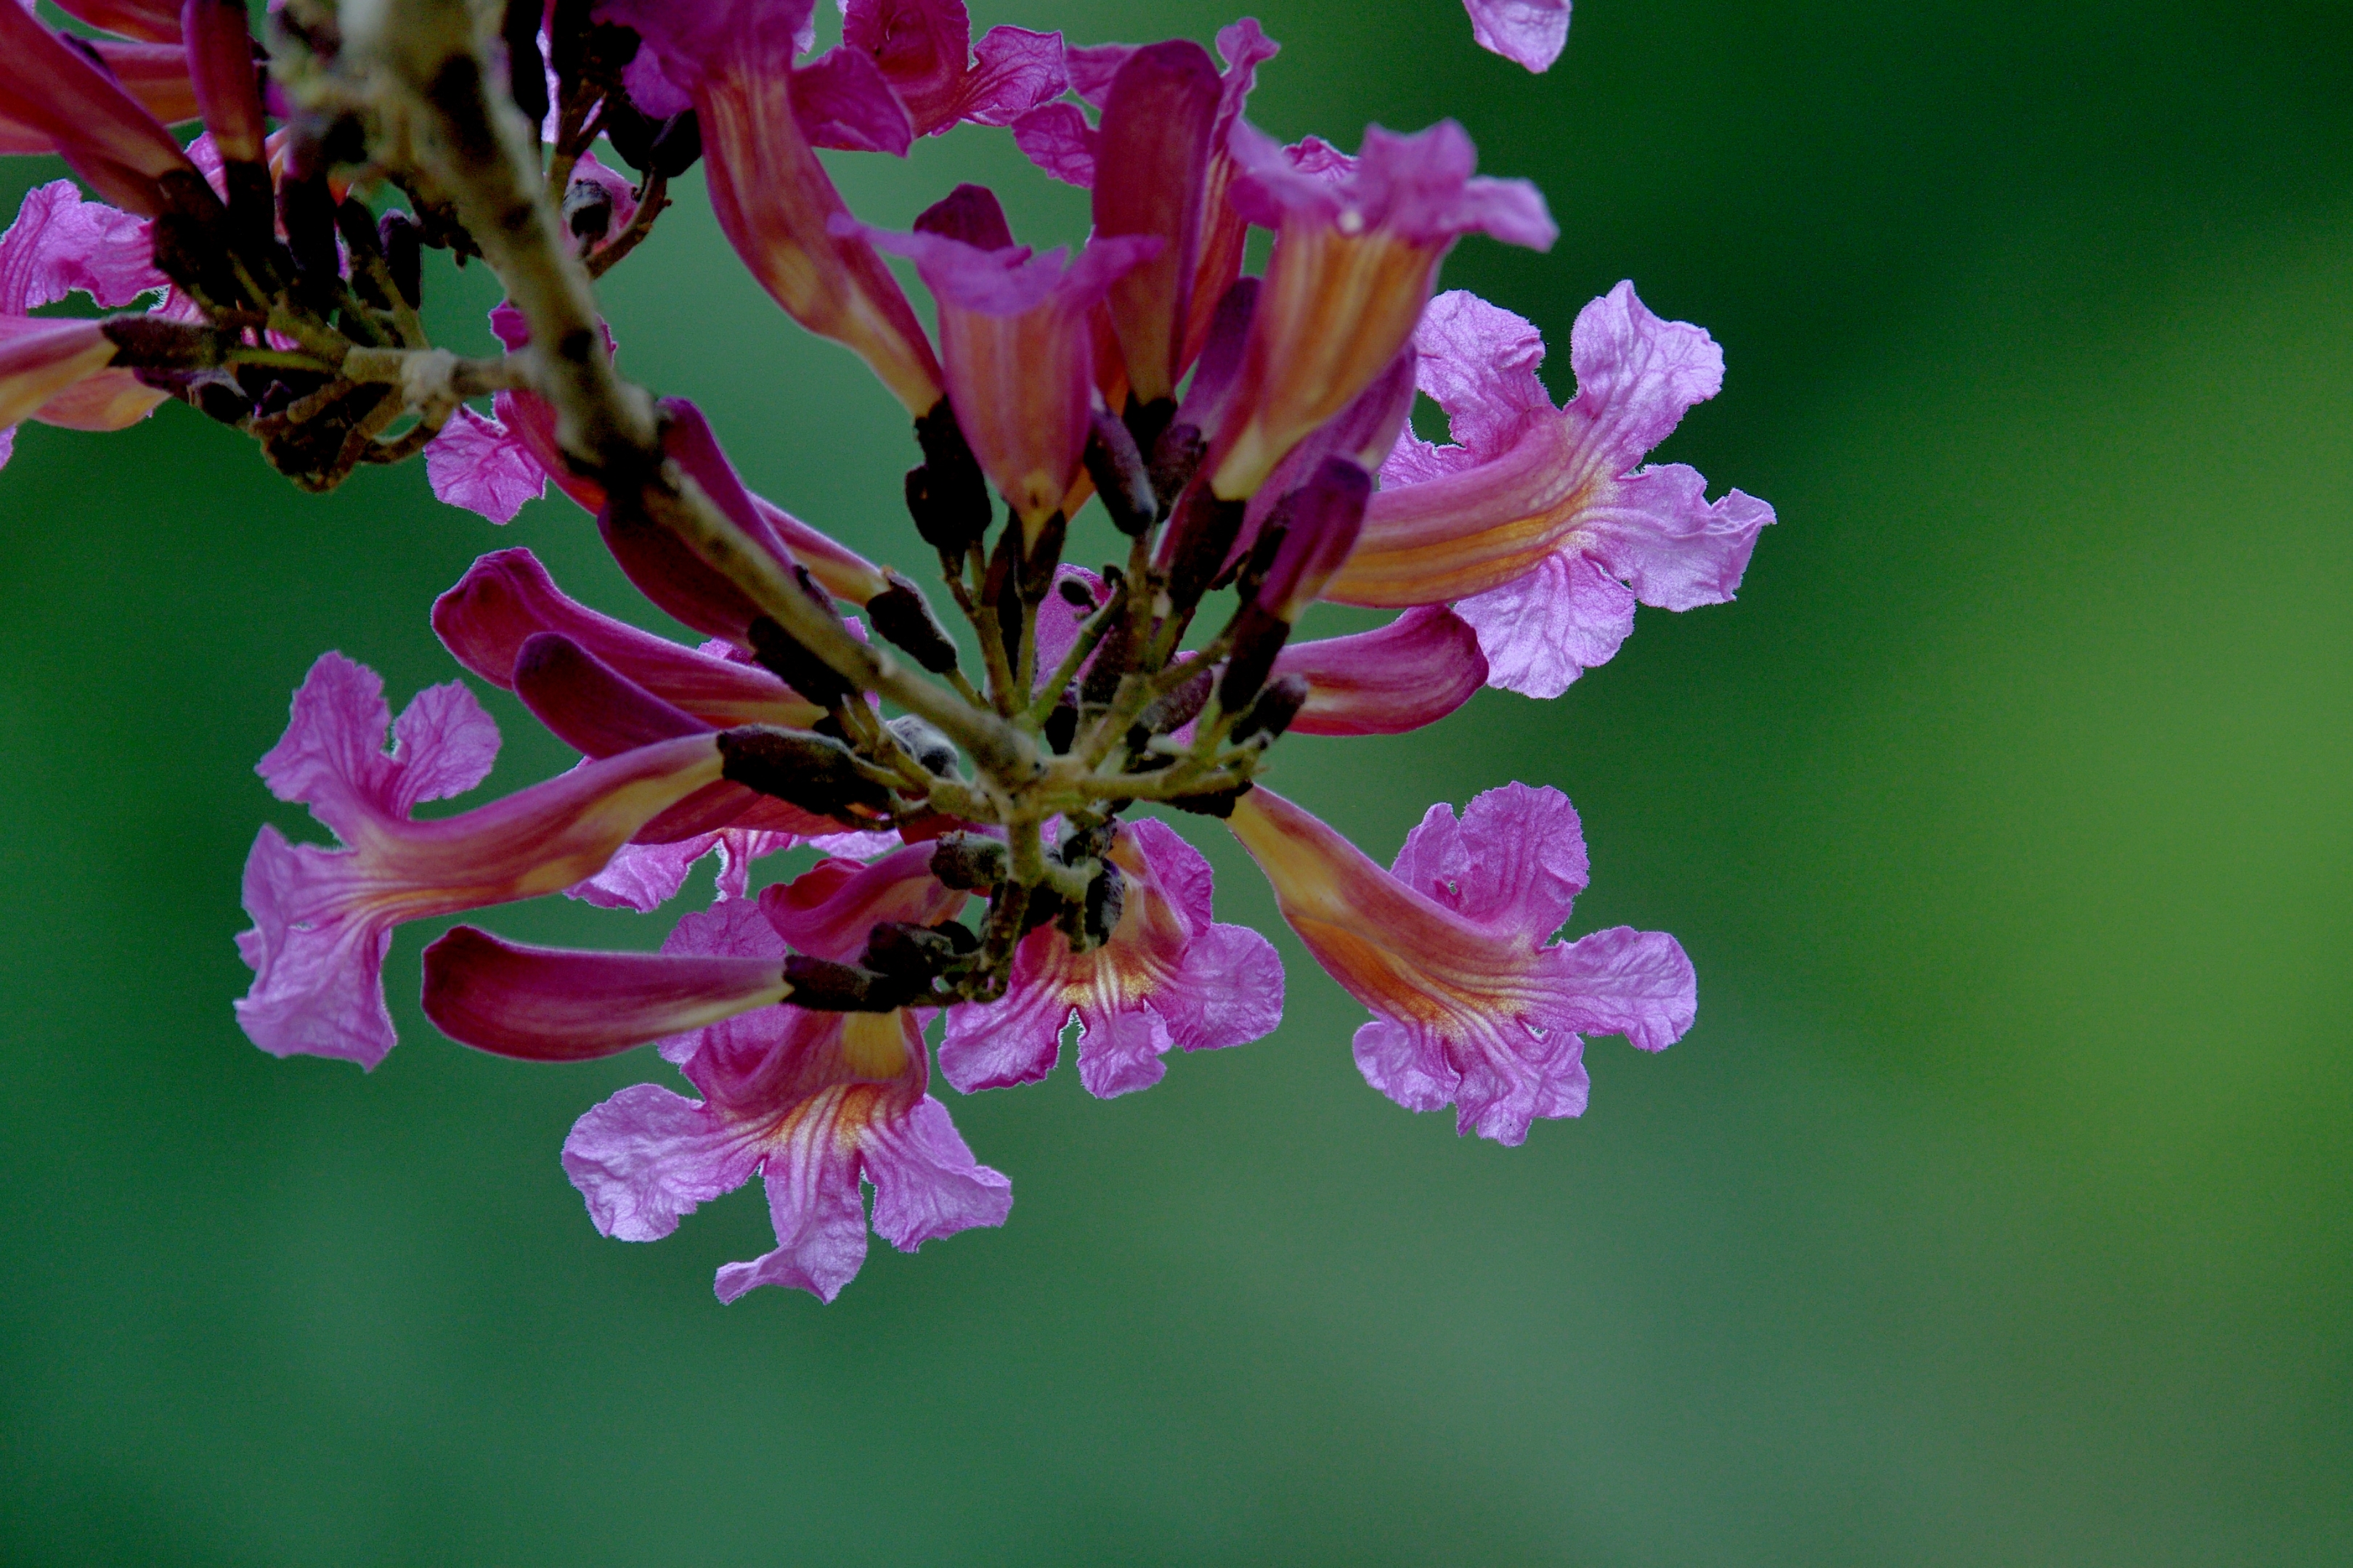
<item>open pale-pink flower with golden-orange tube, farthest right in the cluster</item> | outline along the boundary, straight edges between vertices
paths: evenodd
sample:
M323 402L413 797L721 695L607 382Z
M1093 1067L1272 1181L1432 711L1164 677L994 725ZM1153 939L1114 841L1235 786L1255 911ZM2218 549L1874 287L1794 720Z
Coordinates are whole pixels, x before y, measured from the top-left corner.
M1617 654L1635 599L1732 597L1772 508L1741 491L1711 503L1682 463L1635 468L1722 386L1706 331L1661 322L1621 282L1577 315L1577 397L1560 409L1537 378L1544 339L1511 310L1442 294L1414 341L1459 444L1398 442L1327 599L1457 599L1492 684L1560 696Z

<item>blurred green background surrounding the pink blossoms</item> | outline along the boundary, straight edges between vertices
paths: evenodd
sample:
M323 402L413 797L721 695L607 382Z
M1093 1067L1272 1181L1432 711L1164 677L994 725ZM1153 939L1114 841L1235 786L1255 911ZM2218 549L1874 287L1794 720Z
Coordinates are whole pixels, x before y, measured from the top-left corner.
M720 1307L755 1192L628 1246L555 1161L656 1063L440 1041L428 931L372 1077L228 1011L245 849L301 823L249 771L285 693L329 646L395 701L447 679L426 604L494 545L631 609L586 517L494 531L421 465L313 503L186 409L26 425L7 1561L2353 1559L2353 19L1584 0L1529 78L1449 0L1259 14L1268 129L1457 115L1546 188L1553 254L1471 240L1445 282L1537 317L1555 393L1619 277L1725 343L1666 456L1781 512L1739 604L1642 611L1558 703L1282 752L1381 858L1428 799L1567 790L1572 933L1675 931L1692 1034L1595 1044L1591 1112L1522 1150L1457 1140L1358 1079L1362 1013L1285 933L1268 1041L1115 1103L944 1091L1014 1178L1002 1232ZM1078 42L1226 19L976 5ZM1082 228L995 132L840 169L887 223L976 176L1024 237ZM52 174L0 167L7 209ZM487 343L487 277L433 289ZM758 489L915 555L894 404L699 190L609 306ZM494 788L562 766L492 708Z

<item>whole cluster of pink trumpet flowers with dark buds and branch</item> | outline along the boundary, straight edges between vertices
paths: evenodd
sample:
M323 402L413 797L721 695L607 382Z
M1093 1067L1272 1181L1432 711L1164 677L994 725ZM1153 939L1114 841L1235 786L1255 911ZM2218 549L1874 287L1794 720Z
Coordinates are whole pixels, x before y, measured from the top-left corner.
M0 237L0 461L21 418L115 430L176 400L306 489L421 454L438 496L506 522L555 484L704 637L588 609L529 550L480 557L433 630L581 762L428 818L487 776L496 726L459 682L395 719L376 675L322 656L259 769L334 835L264 827L245 867L238 1020L264 1051L384 1060L400 924L548 893L652 912L718 856L715 903L659 952L449 929L424 1011L522 1060L654 1044L692 1095L626 1088L565 1143L595 1225L654 1239L758 1173L776 1251L720 1295L831 1300L868 1225L915 1248L1012 1204L929 1093L934 1013L962 1093L1045 1077L1075 1025L1106 1098L1280 1020L1275 947L1214 919L1209 863L1144 809L1233 832L1369 1009L1365 1079L1464 1133L1579 1114L1588 1034L1659 1051L1689 1027L1671 936L1558 940L1586 886L1558 790L1431 806L1381 870L1261 783L1289 731L1558 696L1635 602L1729 599L1772 522L1645 465L1722 381L1706 331L1619 284L1579 313L1555 402L1527 320L1435 292L1466 235L1555 235L1461 127L1369 127L1353 155L1268 136L1249 94L1275 42L1249 19L1212 56L842 0L816 54L812 0L508 0L489 33L464 0L287 0L266 40L240 0L66 9L113 38L0 0L0 150L56 153L92 193L47 183ZM1560 52L1565 0L1468 9L1529 68ZM960 125L1087 188L1085 242L1016 242L979 186L878 228L819 158ZM692 402L616 374L593 280L696 162L776 306L906 407L906 510L958 632L915 576L746 489ZM506 284L504 355L426 336L426 249ZM75 292L113 315L35 315ZM1412 433L1417 393L1449 444ZM1122 559L1066 562L1085 531ZM1315 602L1398 616L1294 637ZM819 858L755 889L788 849Z

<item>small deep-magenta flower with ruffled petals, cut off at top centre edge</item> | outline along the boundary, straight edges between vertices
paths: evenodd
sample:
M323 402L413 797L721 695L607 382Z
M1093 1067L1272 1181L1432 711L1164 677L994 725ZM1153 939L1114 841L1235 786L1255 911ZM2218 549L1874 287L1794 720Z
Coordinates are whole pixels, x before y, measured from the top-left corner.
M1012 125L1066 85L1061 33L988 28L974 49L960 0L847 0L842 47L875 63L918 136Z

